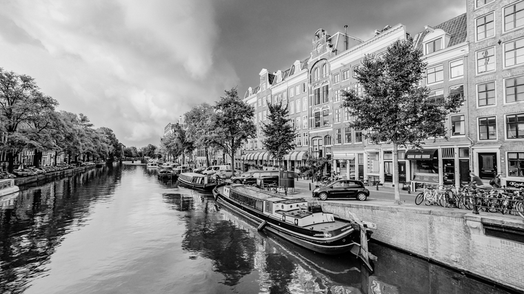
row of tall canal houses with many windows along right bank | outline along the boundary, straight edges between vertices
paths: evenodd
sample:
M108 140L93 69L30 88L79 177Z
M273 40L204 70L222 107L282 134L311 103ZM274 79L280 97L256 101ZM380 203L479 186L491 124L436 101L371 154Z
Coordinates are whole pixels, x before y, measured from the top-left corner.
M257 136L235 160L274 165L264 149L261 123L268 103L282 101L298 134L296 148L283 162L287 170L307 156L328 158L325 172L359 180L392 182L392 145L369 143L365 130L352 129L341 107L343 90L362 91L354 70L366 54L381 58L396 40L412 38L423 50L427 69L421 81L431 96L461 94L464 103L447 116L447 137L430 139L422 151L399 151L399 180L461 185L474 171L486 183L497 173L508 185L524 185L524 0L467 0L464 14L416 34L405 25L387 25L367 41L345 32L314 33L309 56L285 70L259 72L260 83L243 101L255 108Z

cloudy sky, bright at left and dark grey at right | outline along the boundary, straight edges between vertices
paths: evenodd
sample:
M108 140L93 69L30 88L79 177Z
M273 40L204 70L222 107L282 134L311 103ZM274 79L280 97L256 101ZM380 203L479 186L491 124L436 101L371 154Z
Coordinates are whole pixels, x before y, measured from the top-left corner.
M465 1L0 0L0 67L28 74L59 110L109 127L126 146L223 91L243 96L262 68L309 55L319 28L367 40L403 23L414 35Z

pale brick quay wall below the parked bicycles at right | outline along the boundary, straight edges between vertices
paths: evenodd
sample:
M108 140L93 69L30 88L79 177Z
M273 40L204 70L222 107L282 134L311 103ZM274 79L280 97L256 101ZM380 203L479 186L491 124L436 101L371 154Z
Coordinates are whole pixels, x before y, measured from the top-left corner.
M524 220L495 213L395 204L322 202L343 219L350 211L376 223L372 239L420 258L524 291ZM380 262L380 260L378 261Z

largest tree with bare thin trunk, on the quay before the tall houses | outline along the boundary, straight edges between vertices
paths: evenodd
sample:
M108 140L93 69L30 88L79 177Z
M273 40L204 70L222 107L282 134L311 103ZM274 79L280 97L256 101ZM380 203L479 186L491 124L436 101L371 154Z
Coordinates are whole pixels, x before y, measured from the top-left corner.
M365 56L362 63L356 79L363 92L343 92L342 106L354 117L350 127L366 130L372 143L393 145L395 202L400 204L399 146L420 148L423 140L443 136L443 121L462 100L458 95L428 97L430 90L419 86L427 64L411 39L396 41L381 59Z

